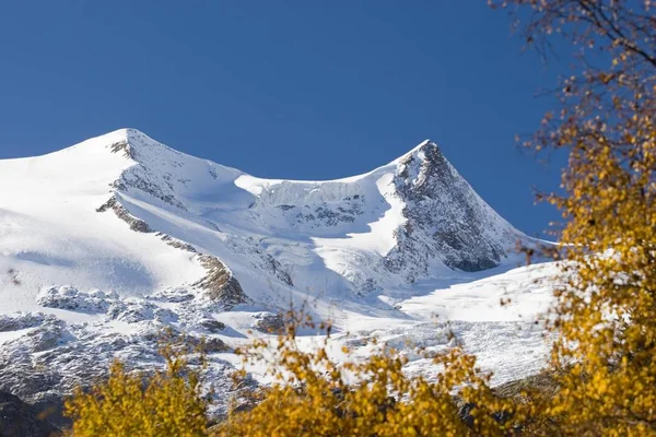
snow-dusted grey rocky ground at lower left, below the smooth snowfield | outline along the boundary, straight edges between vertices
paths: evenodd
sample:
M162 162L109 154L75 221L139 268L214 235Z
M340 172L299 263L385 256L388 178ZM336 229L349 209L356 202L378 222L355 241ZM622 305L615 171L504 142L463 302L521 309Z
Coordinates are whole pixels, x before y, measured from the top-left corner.
M75 387L105 377L117 357L129 370L149 373L163 366L157 351L165 339L206 353L211 371L220 375L212 378L221 383L219 379L232 366L213 354L232 349L215 335L225 326L207 312L207 296L196 293L175 290L138 298L66 286L47 288L43 302L48 308L97 311L102 318L67 322L38 312L2 316L0 327L16 332L0 347L0 391L19 395L37 411L52 412L50 421L65 424L61 405ZM110 328L114 321L128 323L129 329L116 331ZM226 408L227 399L218 402L218 408Z

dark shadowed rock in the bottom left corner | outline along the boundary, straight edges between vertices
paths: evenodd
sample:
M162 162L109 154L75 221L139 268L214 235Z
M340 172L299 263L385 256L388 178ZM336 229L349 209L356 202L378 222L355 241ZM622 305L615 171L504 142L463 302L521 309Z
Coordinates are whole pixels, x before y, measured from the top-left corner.
M39 417L38 412L17 397L0 391L0 436L54 437L59 429Z

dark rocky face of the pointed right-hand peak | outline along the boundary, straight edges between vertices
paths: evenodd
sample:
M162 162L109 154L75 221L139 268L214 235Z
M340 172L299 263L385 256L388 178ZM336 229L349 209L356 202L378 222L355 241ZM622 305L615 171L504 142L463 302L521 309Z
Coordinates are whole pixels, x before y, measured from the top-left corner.
M517 238L432 142L400 162L394 182L407 224L384 263L409 282L425 275L432 259L468 272L493 268Z

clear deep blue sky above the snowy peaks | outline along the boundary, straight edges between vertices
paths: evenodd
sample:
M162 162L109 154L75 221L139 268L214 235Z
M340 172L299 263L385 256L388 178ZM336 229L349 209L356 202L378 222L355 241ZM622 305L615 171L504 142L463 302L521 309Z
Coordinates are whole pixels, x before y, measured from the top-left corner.
M558 66L484 0L0 3L0 158L133 127L261 177L373 169L426 138L496 211L541 235L558 186L520 152Z

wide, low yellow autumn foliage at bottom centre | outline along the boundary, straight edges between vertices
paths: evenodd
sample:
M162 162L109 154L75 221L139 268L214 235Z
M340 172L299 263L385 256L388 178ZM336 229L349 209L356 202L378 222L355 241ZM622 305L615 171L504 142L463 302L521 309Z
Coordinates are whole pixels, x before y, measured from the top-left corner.
M272 347L257 341L241 351L246 362L269 361L276 380L248 411L234 411L213 432L227 436L466 436L504 435L511 402L496 399L475 358L454 349L435 356L435 380L409 377L407 359L380 347L364 361L338 363L321 347L304 352L291 324ZM343 351L349 353L348 350ZM471 410L471 428L460 418L452 391Z

